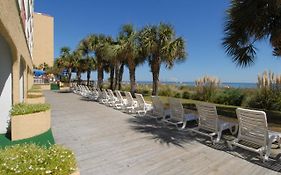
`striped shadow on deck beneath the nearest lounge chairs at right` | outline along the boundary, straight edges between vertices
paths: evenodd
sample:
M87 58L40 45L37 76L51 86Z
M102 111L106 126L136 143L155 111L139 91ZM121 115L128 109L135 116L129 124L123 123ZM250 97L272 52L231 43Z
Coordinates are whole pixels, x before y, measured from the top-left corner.
M276 172L281 172L281 148L277 148L277 145L273 144L272 147L272 154L271 157L268 161L263 163L263 161L260 159L259 154L247 151L245 149L236 147L234 150L230 150L227 146L227 141L231 141L235 138L235 136L232 136L230 132L226 131L223 133L223 137L220 141L220 143L213 144L210 141L210 138L208 137L201 137L200 135L195 135L193 136L193 139L196 140L197 142L204 144L210 148L223 151L225 153L228 153L232 156L241 158L243 160L246 160L250 163L259 165L261 167L276 171Z

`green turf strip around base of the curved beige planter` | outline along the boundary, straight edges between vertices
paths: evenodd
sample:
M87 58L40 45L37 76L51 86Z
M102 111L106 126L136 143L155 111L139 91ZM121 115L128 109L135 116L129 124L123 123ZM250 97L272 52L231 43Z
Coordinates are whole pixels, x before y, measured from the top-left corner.
M35 143L36 145L49 147L50 144L55 144L55 140L51 129L41 135L18 141L11 141L10 136L8 134L0 134L0 149L5 148L6 146L12 146L23 143Z

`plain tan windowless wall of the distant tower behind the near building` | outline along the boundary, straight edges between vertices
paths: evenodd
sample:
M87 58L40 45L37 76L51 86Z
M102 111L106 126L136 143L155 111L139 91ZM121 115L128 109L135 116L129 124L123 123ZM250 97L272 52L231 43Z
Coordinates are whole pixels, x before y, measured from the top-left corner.
M34 48L33 63L39 66L44 62L54 65L54 18L41 13L34 13Z

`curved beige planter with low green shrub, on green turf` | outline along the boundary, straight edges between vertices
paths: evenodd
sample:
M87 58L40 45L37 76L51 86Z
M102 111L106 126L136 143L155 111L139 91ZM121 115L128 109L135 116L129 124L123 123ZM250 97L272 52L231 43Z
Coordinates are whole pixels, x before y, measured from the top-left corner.
M40 135L51 128L49 104L20 103L11 110L11 138L21 140Z

